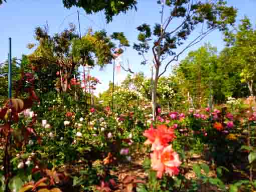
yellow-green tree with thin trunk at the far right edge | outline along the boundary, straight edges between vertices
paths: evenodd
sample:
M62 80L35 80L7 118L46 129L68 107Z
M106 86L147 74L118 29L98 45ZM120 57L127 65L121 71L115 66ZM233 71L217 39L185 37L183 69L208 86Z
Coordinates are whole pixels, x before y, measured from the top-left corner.
M248 86L251 96L254 96L253 84L256 80L256 30L249 19L244 17L236 32L227 32L225 41L230 47L233 64L240 65L241 81Z

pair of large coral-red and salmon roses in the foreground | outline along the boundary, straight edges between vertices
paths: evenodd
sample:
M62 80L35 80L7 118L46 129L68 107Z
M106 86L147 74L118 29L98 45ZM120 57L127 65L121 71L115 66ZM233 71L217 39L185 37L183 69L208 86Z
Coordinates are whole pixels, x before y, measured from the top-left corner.
M157 125L157 128L151 126L144 132L144 136L148 138L145 144L152 144L151 167L157 171L157 177L161 178L164 173L177 175L181 161L178 153L169 145L175 138L174 128L168 128L166 125Z

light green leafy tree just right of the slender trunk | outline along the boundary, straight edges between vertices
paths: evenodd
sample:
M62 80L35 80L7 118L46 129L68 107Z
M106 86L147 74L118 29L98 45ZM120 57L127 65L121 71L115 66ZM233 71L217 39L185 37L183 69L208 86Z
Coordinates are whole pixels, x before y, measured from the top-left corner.
M210 89L216 86L216 53L215 47L206 44L197 51L189 52L176 69L183 74L184 85L195 104L200 105L204 98L209 98Z

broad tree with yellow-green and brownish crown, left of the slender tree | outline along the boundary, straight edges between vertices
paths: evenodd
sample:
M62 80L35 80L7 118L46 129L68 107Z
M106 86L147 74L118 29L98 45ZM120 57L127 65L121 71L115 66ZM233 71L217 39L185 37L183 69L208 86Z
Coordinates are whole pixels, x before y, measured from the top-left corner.
M36 28L35 34L38 43L28 46L36 46L29 59L39 77L39 87L44 92L48 92L48 88L67 92L71 79L79 76L78 67L81 65L93 67L94 60L100 67L110 64L116 48L113 41L119 41L119 47L129 46L123 33L107 36L105 31L92 33L89 30L80 39L74 25L54 36L49 35L47 26Z

